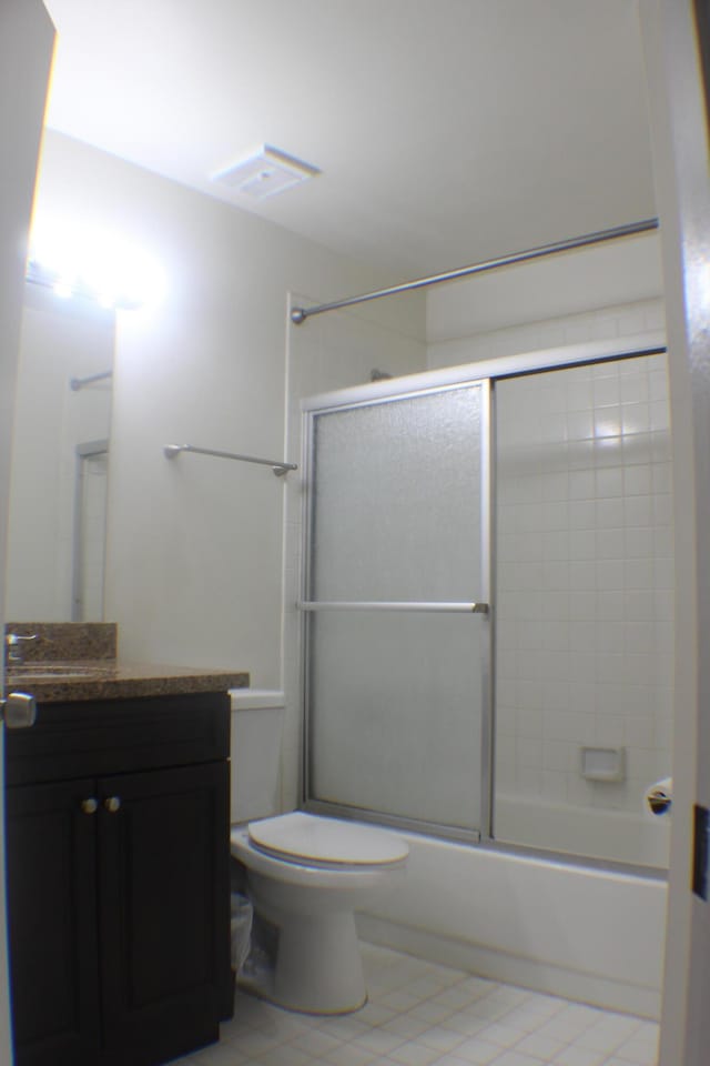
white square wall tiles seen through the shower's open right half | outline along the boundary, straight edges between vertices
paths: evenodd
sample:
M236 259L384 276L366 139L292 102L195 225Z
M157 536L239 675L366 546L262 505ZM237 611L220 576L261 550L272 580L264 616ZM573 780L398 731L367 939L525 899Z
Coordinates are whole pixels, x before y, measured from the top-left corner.
M665 369L653 368L635 359L497 386L504 454L508 416L537 404L545 420L545 440L532 455L513 430L515 473L510 465L498 470L500 497L508 499L505 482L515 476L518 501L497 516L508 620L498 632L498 665L505 662L518 677L516 733L508 734L506 750L506 832L513 838L511 796L640 816L645 782L670 763L672 496L666 433L657 432L665 425ZM586 439L591 432L594 442ZM538 496L532 563L523 523L532 524L525 507ZM539 615L530 610L530 589L539 591ZM535 711L527 678L535 678ZM509 730L513 720L505 721ZM585 781L585 744L625 747L626 781ZM590 842L595 854L602 854L602 841L599 833ZM639 841L629 841L630 856ZM577 846L585 849L582 842ZM642 853L636 861L643 862Z

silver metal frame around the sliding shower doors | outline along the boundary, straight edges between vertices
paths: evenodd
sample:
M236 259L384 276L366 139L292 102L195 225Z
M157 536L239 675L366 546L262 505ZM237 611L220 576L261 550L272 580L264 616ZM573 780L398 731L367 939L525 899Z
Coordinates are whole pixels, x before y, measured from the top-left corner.
M310 545L313 522L313 493L311 491L314 471L314 433L313 422L317 414L344 411L348 408L367 406L374 403L416 398L432 393L480 384L481 401L481 583L486 595L488 612L486 633L481 638L481 746L479 767L480 796L480 828L479 832L464 831L457 827L440 825L432 822L420 822L413 818L383 815L376 811L345 806L335 803L314 800L310 796L311 774L308 766L310 754L310 621L306 612L301 612L300 627L301 647L301 707L302 707L302 766L300 782L301 807L317 814L335 815L343 818L354 818L362 822L372 822L378 825L388 825L405 832L419 832L440 836L446 839L460 841L469 844L480 844L506 852L520 852L528 855L539 854L547 857L558 856L565 862L574 862L574 855L557 853L550 849L531 848L525 845L510 844L497 841L494 836L494 766L495 766L495 384L506 378L517 378L524 374L540 373L547 370L564 370L567 366L602 363L620 359L631 359L641 355L657 355L666 353L666 336L655 330L627 338L617 338L608 341L590 341L581 344L570 344L565 348L547 349L519 355L500 356L498 359L481 360L443 370L423 371L402 378L386 379L365 385L341 389L317 396L303 400L302 409L302 471L304 474L304 493L302 500L302 544L301 553L301 601L306 601L311 583ZM585 864L594 865L595 861L588 856L579 856ZM601 861L605 866L626 868L626 864ZM635 872L639 867L629 867Z

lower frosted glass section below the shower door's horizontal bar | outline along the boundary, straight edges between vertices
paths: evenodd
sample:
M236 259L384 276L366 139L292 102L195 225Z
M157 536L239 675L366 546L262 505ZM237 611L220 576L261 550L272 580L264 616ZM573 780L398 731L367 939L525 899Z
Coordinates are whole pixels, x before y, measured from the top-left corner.
M327 612L311 625L311 798L477 829L485 619Z

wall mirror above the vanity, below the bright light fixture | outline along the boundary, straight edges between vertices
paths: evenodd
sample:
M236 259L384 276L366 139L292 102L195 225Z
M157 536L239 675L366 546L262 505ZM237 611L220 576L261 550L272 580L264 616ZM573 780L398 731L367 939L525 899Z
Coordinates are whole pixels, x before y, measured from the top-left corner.
M103 619L114 312L27 282L12 446L7 616Z

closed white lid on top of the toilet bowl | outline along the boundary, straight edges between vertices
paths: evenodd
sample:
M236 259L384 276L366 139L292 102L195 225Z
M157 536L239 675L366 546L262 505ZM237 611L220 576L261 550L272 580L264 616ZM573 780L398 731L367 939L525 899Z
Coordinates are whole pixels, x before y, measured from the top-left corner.
M409 854L406 841L394 833L303 811L250 822L248 835L264 852L313 863L375 866L400 863Z

